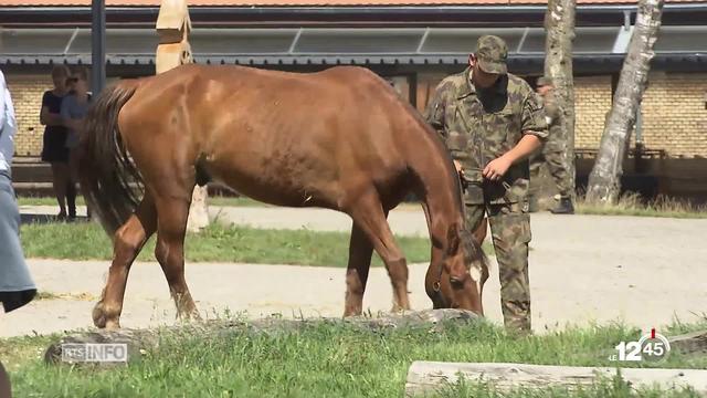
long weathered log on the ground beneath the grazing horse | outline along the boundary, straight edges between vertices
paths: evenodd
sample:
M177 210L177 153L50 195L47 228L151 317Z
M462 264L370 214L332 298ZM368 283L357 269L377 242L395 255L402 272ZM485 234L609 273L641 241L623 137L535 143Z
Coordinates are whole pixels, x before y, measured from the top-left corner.
M73 363L85 360L76 357L76 347L93 344L124 344L127 349L127 360L123 363L95 363L97 365L120 365L137 360L146 350L157 348L165 338L180 338L199 336L200 338L218 338L231 333L278 333L297 331L303 327L320 324L352 325L368 331L379 331L397 327L426 327L440 329L449 323L479 322L483 318L477 314L465 310L424 310L405 312L402 314L379 314L372 316L357 316L348 318L300 318L284 320L268 317L256 321L204 321L189 322L177 326L162 326L159 328L131 329L120 328L116 331L89 331L74 333L53 343L44 353L44 360L49 364ZM83 354L80 354L83 355ZM75 360L74 360L75 359ZM84 358L85 359L85 358Z

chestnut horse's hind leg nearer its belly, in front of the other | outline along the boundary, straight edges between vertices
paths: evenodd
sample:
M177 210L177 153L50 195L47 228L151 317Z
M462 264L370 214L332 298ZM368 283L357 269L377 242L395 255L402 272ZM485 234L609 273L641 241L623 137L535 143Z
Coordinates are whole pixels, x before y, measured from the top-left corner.
M155 256L162 268L179 317L200 318L184 280L184 235L191 191L188 197L156 198L158 222Z

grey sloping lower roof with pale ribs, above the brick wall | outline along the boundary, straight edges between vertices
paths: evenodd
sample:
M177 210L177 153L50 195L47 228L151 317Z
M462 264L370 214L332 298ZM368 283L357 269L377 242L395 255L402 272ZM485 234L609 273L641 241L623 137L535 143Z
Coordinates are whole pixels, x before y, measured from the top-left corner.
M632 30L578 27L577 62L621 67ZM245 65L457 65L482 34L497 34L516 65L541 65L542 28L201 28L190 34L196 62ZM107 29L108 65L152 65L158 36L152 29ZM0 64L91 64L91 30L4 29ZM662 27L654 65L705 69L707 27Z

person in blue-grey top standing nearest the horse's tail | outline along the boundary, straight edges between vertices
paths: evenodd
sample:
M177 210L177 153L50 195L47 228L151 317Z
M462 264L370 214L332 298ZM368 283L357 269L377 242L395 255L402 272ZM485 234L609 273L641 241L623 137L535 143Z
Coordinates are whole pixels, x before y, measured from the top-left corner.
M68 149L68 168L71 170L68 185L70 195L73 199L70 208L73 206L74 212L70 213L68 219L76 218L76 184L78 182L78 157L76 146L78 145L78 130L83 123L83 118L88 112L91 105L91 94L88 94L88 73L85 67L81 67L70 78L73 93L65 96L62 101L61 117L64 126L68 128L66 136L66 148ZM91 218L91 209L88 209Z

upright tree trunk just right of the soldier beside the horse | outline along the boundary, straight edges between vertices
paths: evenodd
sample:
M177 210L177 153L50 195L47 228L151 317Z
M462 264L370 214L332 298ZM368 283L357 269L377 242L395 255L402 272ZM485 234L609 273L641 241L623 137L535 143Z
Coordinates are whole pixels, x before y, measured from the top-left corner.
M569 186L574 187L574 80L572 43L574 42L576 0L548 0L545 15L545 75L552 78L555 97L562 109L564 167ZM572 189L573 190L573 189Z

